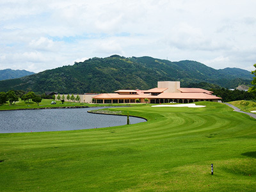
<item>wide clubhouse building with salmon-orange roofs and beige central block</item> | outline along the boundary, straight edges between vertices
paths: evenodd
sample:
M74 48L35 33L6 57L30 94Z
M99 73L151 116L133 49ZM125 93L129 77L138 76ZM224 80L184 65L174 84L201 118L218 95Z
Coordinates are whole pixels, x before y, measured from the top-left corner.
M157 88L150 90L118 90L92 97L95 103L134 103L136 100L148 103L190 103L198 101L218 102L221 97L201 88L180 88L180 81L158 81Z

